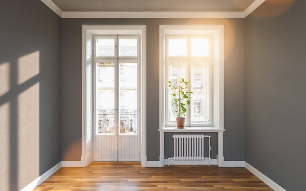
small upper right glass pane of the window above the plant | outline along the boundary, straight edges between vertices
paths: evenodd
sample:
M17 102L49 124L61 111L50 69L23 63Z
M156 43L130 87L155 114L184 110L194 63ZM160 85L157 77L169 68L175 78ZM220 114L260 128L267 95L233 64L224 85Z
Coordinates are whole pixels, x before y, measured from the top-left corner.
M192 57L208 57L209 56L209 40L206 38L191 39L191 56Z

